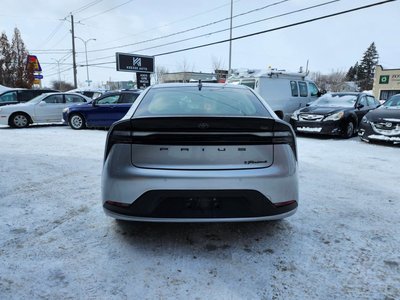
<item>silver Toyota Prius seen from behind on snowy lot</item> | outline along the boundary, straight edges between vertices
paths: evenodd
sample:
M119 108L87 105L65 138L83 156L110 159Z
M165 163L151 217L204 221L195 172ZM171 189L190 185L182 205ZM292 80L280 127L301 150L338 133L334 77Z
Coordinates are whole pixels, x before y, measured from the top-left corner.
M298 205L296 138L246 86L147 88L107 136L103 209L120 220L276 220Z

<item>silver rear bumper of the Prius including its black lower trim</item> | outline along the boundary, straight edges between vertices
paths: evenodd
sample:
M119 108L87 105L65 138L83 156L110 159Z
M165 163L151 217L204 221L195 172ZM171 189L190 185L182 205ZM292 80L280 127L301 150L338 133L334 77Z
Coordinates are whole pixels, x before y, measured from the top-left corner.
M288 145L274 147L274 163L268 168L190 171L137 168L128 155L123 155L130 151L129 145L114 146L111 151L121 153L109 155L103 168L104 211L117 219L157 222L253 221L290 216L298 203L297 162ZM295 204L275 206L286 201Z

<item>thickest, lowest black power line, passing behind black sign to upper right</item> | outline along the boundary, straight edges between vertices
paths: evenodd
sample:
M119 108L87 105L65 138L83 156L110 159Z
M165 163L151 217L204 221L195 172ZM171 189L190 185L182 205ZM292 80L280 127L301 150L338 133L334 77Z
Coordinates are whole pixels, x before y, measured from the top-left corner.
M340 12L337 12L337 13L321 16L321 17L307 19L307 20L304 20L304 21L300 21L300 22L296 22L296 23L292 23L292 24L288 24L288 25L284 25L284 26L279 26L279 27L275 27L275 28L272 28L272 29L262 30L262 31L258 31L258 32L254 32L254 33L250 33L250 34L234 37L234 38L232 38L232 40L233 41L234 40L240 40L240 39L244 39L244 38L248 38L248 37L252 37L252 36L256 36L256 35L260 35L260 34L264 34L264 33L268 33L268 32L273 32L273 31L282 30L282 29L286 29L286 28L290 28L290 27L295 27L295 26L299 26L299 25L303 25L303 24L307 24L307 23L311 23L311 22L316 22L316 21L319 21L319 20L332 18L332 17L336 17L336 16L339 16L339 15L343 15L343 14L348 14L348 13L351 13L351 12L355 12L355 11L371 8L371 7L378 6L378 5L383 5L383 4L394 2L394 1L396 1L396 0L386 0L386 1L381 1L381 2L377 2L377 3L369 4L369 5L359 6L359 7L353 8L353 9L344 10L344 11L340 11ZM164 56L164 55L169 55L169 54L174 54L174 53L179 53L179 52L184 52L184 51L189 51L189 50L194 50L194 49L199 49L199 48L204 48L204 47L209 47L209 46L213 46L213 45L217 45L217 44L227 43L229 41L230 41L230 39L225 39L225 40L220 40L220 41L213 42L213 43L202 44L202 45L188 47L188 48L184 48L184 49L179 49L179 50L159 53L159 54L155 54L154 56ZM97 64L89 64L89 66L106 65L106 64L111 64L111 63L115 63L115 61L97 63Z

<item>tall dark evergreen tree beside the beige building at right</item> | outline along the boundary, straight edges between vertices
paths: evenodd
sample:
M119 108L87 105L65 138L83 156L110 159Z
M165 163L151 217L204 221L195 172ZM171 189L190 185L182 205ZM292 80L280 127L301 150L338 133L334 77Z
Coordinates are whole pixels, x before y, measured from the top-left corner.
M379 55L373 42L364 52L358 69L358 81L361 90L371 90L374 82L375 66L378 64Z

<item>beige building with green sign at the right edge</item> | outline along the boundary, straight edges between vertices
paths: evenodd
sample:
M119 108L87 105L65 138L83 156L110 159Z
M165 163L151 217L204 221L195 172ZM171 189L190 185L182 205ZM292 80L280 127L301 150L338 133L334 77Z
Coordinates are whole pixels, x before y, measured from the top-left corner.
M387 100L400 94L400 69L384 69L377 65L372 93L379 100Z

